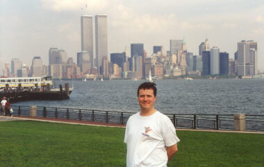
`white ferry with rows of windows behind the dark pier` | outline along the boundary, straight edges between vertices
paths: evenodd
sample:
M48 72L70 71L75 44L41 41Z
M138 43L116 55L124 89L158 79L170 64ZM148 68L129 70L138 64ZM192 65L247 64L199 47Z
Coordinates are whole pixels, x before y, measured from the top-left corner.
M51 76L25 77L25 78L0 78L0 89L4 87L46 87L48 84L53 87L54 83Z

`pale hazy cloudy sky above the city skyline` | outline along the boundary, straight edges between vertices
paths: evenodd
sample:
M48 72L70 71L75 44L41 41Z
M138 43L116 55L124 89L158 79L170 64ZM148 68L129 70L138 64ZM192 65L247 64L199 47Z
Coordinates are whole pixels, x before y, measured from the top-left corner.
M233 58L237 42L253 39L264 69L263 0L0 0L0 57L31 65L40 56L48 64L49 48L56 46L76 61L81 16L97 14L108 15L109 55L143 43L149 56L154 45L170 50L170 39L185 37L194 54L208 38Z

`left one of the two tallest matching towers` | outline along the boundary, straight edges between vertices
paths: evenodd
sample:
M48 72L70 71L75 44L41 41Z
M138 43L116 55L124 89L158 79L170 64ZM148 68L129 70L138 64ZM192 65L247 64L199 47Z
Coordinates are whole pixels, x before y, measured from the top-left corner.
M81 51L87 51L89 58L85 60L90 61L90 68L93 67L94 60L94 45L92 33L92 16L81 17Z

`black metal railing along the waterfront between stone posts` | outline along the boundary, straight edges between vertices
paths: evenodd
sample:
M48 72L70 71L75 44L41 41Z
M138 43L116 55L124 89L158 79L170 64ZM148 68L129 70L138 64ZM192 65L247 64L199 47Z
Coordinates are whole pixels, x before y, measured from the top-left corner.
M14 115L29 116L30 106L12 105ZM114 112L96 109L37 107L37 116L79 121L126 124L135 112ZM234 130L233 114L166 114L175 128ZM246 129L264 131L264 115L246 115Z

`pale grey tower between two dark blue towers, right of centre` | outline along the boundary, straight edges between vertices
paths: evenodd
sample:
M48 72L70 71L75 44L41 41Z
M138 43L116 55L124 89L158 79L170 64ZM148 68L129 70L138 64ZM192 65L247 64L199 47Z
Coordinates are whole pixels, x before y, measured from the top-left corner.
M211 75L218 75L220 74L220 49L214 46L211 49Z

